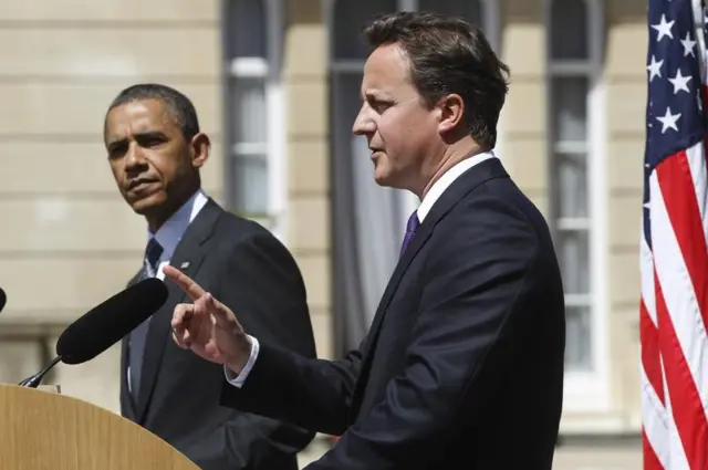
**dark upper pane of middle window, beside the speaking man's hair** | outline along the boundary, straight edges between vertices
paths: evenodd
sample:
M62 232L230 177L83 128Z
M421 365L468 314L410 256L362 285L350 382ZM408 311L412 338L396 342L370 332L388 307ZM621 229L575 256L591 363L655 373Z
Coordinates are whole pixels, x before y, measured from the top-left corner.
M379 13L396 11L396 0L335 0L334 59L366 59L362 28Z

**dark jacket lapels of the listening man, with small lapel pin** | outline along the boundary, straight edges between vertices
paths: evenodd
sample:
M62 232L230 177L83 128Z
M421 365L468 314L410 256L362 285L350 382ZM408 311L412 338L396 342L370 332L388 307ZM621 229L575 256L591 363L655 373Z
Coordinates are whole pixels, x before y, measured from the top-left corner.
M214 232L214 227L223 210L214 200L199 211L195 220L189 224L169 264L179 269L190 278L195 278L206 254L206 242ZM163 362L163 355L167 342L170 341L170 321L173 312L178 303L188 301L183 290L170 280L165 280L167 285L167 301L150 320L145 344L145 359L143 375L140 377L140 390L138 393L137 421L143 422L147 406L155 389L155 383Z

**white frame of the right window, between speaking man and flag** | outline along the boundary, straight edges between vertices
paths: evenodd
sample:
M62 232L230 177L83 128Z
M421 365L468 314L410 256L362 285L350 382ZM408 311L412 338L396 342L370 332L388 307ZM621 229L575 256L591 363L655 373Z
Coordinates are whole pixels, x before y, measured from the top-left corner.
M570 411L607 411L610 407L608 386L608 286L605 273L608 267L608 208L607 208L607 148L606 148L606 90L604 81L603 51L605 38L604 4L602 0L583 0L586 6L589 59L582 61L554 60L552 58L551 21L553 0L544 0L545 24L545 87L549 96L548 107L548 155L549 155L549 194L550 224L554 237L559 226L572 229L587 226L589 232L589 269L590 292L566 294L568 304L590 306L590 347L592 368L589 372L566 370L564 380L563 407ZM553 113L550 104L552 81L555 77L586 77L589 80L586 104L586 158L587 158L587 220L565 219L558 216L558 207L553 198L556 195L554 181L554 153L556 142L553 136ZM586 297L586 299L582 299ZM583 301L587 301L584 303ZM570 301L570 302L569 302Z

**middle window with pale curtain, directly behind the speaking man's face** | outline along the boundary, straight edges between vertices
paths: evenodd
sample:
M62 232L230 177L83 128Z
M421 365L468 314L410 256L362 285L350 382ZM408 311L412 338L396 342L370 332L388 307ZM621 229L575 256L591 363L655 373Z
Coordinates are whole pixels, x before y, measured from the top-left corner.
M406 220L418 205L408 191L378 187L365 137L352 134L361 107L367 51L361 28L379 13L426 10L479 24L499 43L497 0L330 0L333 311L335 354L355 347L368 330L398 260ZM375 240L376 242L372 242Z

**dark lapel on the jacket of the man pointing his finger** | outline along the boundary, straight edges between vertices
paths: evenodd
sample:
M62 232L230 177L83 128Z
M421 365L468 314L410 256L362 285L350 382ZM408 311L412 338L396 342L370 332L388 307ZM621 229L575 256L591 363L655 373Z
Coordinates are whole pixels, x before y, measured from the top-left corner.
M498 177L508 177L509 175L501 165L498 158L491 158L485 160L467 171L465 171L459 178L457 178L450 186L442 192L440 198L433 205L430 212L426 216L425 220L418 227L415 237L406 248L406 251L402 254L396 264L396 269L391 275L391 280L386 285L376 314L372 322L372 326L368 331L368 338L364 351L364 361L362 364L362 374L360 374L356 388L354 391L354 399L352 405L352 414L350 416L355 417L358 414L358 407L362 404L363 391L368 382L368 373L371 372L372 362L374 359L374 353L376 351L376 343L378 342L378 335L386 316L386 311L391 301L400 284L400 280L408 271L410 263L418 254L420 249L428 241L433 234L435 227L440 220L472 189L481 185L482 182Z

